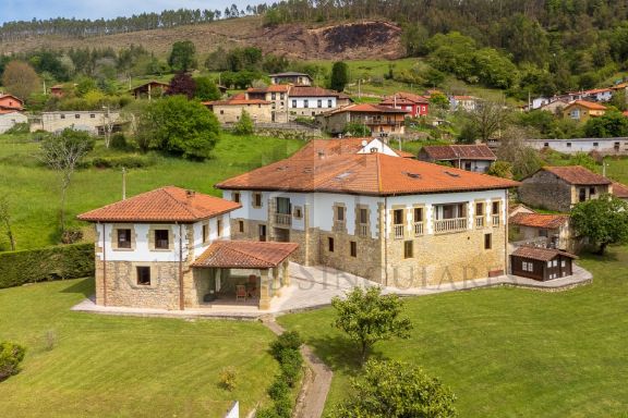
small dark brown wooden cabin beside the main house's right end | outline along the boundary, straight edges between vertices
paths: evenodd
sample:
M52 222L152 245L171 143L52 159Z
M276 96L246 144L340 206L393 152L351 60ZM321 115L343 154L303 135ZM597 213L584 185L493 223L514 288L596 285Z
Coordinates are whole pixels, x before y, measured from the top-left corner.
M510 268L515 275L546 281L573 274L576 258L559 249L521 246L510 256Z

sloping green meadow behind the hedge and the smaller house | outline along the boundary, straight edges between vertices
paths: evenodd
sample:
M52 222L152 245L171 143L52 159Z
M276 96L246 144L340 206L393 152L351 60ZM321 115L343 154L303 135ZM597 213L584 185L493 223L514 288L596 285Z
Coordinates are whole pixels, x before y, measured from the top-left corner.
M176 185L219 196L220 192L214 188L218 181L283 158L301 145L299 140L224 134L214 150L214 158L205 162L157 156L156 164L129 170L126 194L134 196L156 187ZM41 247L58 241L60 183L55 172L41 167L34 157L37 151L38 145L25 138L0 136L0 196L9 196L19 249ZM101 149L96 152L101 152ZM119 169L80 170L69 190L69 216L73 218L121 196Z

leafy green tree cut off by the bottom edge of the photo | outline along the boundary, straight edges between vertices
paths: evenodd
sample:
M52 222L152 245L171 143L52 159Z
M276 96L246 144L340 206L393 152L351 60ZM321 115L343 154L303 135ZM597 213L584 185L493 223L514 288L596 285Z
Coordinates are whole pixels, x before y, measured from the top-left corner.
M331 417L449 418L457 416L455 401L450 389L414 365L369 360Z

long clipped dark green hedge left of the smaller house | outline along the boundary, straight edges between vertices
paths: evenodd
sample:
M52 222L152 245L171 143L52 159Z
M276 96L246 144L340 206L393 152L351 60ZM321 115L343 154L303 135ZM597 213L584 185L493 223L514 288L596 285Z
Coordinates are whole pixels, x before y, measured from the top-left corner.
M0 253L0 288L94 275L94 244Z

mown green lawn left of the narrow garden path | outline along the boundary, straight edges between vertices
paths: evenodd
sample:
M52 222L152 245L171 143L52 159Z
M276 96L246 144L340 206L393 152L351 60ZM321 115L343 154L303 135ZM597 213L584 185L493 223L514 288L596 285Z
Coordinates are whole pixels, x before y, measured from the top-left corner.
M0 291L0 341L27 347L23 371L0 383L0 416L218 418L233 399L244 411L266 402L278 366L262 324L69 310L93 292L90 279ZM225 366L234 392L218 385Z

